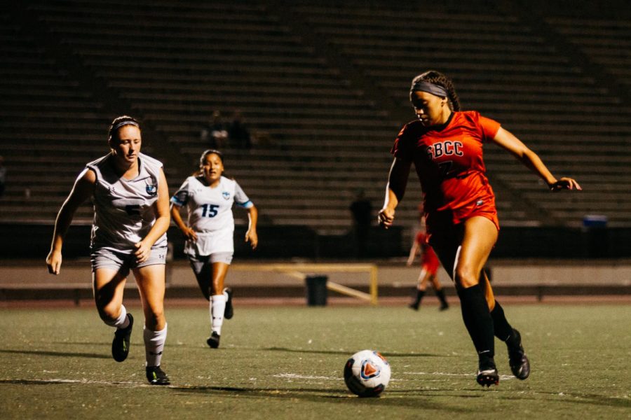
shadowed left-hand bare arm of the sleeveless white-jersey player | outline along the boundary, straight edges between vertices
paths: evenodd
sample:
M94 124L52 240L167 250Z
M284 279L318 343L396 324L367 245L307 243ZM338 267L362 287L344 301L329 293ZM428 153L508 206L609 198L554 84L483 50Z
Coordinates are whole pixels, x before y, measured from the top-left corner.
M96 183L96 175L90 169L84 169L79 177L74 181L74 187L68 195L64 204L62 204L57 219L55 219L55 230L53 232L53 242L50 244L50 252L46 257L46 266L50 274L59 274L62 264L62 247L64 244L64 237L72 218L79 209L79 206L83 204L92 195L94 186Z

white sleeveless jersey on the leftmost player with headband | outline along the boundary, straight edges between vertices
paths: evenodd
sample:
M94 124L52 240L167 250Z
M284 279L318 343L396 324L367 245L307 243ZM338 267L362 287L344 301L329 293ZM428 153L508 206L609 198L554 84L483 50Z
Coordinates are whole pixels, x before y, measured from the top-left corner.
M133 253L134 244L147 236L156 223L154 204L158 200L158 181L162 163L140 153L138 176L124 179L108 162L111 154L86 165L96 174L93 194L93 248L109 248L121 253ZM166 246L166 234L153 248Z

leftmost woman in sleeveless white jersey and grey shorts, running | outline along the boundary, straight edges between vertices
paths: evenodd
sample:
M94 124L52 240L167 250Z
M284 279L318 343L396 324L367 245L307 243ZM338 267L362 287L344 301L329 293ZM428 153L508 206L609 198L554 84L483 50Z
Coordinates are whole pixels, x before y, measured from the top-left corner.
M59 274L62 245L76 209L92 197L90 241L93 290L101 319L116 328L111 354L122 362L129 353L134 318L123 306L123 290L134 274L144 311L147 380L168 385L160 362L167 335L164 316L166 231L169 191L161 162L140 153L140 124L121 116L109 127L110 153L88 163L62 205L46 258L48 272Z

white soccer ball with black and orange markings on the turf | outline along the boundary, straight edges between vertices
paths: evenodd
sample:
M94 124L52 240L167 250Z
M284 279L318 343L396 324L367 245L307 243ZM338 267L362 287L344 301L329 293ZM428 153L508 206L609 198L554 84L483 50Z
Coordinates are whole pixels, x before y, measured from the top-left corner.
M373 350L362 350L346 360L344 382L360 397L376 397L390 381L390 363Z

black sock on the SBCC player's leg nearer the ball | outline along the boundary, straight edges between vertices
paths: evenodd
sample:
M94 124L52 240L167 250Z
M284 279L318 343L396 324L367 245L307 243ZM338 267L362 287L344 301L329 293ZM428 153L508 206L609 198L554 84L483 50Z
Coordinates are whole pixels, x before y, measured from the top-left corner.
M487 300L479 284L458 288L462 319L469 332L480 360L495 356L493 319Z

